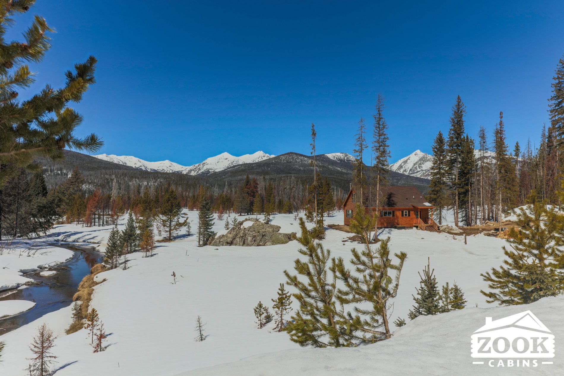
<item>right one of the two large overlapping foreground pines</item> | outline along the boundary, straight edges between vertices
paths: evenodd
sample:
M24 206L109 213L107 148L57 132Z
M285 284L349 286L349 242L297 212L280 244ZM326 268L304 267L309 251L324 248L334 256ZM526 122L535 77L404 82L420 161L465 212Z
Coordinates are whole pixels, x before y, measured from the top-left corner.
M360 204L358 204L360 206ZM403 263L407 258L404 252L396 253L398 263L393 264L390 259L390 237L380 241L378 249L370 245L370 231L374 228L376 217L372 212L356 210L351 220L351 231L362 238L362 251L351 249L350 263L354 272L345 267L342 258L337 259L336 271L339 280L343 282L343 289L338 290L338 301L342 305L359 304L354 307L354 315L346 312L341 319L354 340L371 343L391 338L390 309L391 303L398 294L399 278ZM391 276L391 272L395 272ZM355 332L359 331L359 334Z

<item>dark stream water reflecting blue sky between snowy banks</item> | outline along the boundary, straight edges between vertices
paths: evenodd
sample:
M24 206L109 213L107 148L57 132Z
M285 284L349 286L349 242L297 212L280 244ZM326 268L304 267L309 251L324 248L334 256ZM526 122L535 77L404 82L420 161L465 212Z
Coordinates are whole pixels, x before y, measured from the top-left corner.
M39 319L46 313L69 306L82 278L90 274L90 269L104 259L103 255L94 251L78 251L73 247L67 248L76 251L74 258L64 266L55 268L58 271L55 275L41 277L39 276L41 271L25 275L33 278L33 280L43 282L42 285L0 293L0 300L31 300L37 303L27 312L0 320L0 335Z

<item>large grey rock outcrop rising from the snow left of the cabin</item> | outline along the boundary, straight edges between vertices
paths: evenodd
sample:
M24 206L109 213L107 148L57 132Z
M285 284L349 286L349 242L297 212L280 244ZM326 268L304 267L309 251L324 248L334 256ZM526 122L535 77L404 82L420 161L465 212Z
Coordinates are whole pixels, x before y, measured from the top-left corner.
M295 232L287 234L279 231L280 226L262 223L254 218L247 218L235 224L226 234L210 239L208 245L266 246L286 244L296 238Z

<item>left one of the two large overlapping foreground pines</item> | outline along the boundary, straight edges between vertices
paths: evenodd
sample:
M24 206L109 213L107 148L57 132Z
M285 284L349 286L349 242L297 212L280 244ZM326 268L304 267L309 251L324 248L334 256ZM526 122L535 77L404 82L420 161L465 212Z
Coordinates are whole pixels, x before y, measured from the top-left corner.
M307 261L294 261L297 275L284 271L288 279L287 285L293 286L298 293L292 294L299 308L286 326L290 340L299 346L340 347L342 346L341 328L337 319L337 276L334 272L335 259L331 259L331 251L325 250L320 242L307 230L303 218L299 218L301 236L298 242L303 248L298 252L307 257ZM328 275L328 268L331 268ZM302 277L305 281L298 278Z

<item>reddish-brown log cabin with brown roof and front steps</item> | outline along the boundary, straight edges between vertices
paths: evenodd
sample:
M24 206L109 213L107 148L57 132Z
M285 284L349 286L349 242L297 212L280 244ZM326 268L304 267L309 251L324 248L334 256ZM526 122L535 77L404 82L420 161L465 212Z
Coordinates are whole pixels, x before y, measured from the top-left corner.
M381 188L382 206L368 207L378 213L378 228L413 228L425 231L438 231L438 225L433 220L434 206L426 202L423 194L416 187L389 186ZM356 211L357 193L351 187L343 204L344 223L349 225Z

